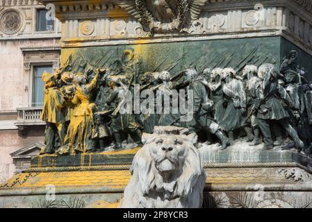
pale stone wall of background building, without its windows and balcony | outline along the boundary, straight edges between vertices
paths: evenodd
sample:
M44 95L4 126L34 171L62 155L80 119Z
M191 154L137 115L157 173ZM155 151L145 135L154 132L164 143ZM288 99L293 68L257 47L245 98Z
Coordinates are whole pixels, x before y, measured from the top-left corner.
M58 66L60 22L56 20L54 31L36 32L38 8L44 6L33 0L0 1L0 182L14 175L10 153L44 140L42 126L30 126L26 134L15 126L17 109L30 106L31 62L56 62L54 66ZM14 26L8 18L15 19ZM51 54L53 58L49 58Z

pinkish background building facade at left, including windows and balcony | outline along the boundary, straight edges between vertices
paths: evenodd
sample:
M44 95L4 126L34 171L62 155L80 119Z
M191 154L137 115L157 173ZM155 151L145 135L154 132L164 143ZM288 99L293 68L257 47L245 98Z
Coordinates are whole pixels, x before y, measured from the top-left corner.
M44 143L43 71L59 66L60 22L38 1L0 1L0 183Z

